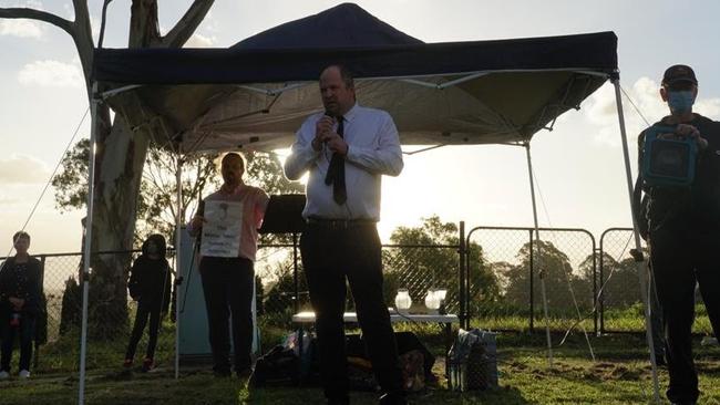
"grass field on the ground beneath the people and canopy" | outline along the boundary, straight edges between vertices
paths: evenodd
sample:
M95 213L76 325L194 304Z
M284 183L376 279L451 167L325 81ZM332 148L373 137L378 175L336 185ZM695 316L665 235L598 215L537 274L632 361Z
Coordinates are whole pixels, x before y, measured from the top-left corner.
M444 378L439 386L413 394L413 404L648 404L652 403L651 371L640 335L592 336L593 361L580 333L557 345L549 367L543 333L498 335L501 387L487 392L451 392ZM720 347L696 343L702 404L720 404ZM435 352L441 345L433 343ZM443 363L435 364L443 375ZM667 371L660 368L661 395ZM353 404L377 403L372 393L352 393ZM247 388L239 380L218 380L205 368L185 370L174 380L172 364L147 374L116 368L91 370L88 404L321 404L317 386ZM78 373L35 373L28 381L0 382L1 404L73 404L78 399ZM665 403L665 402L664 402Z

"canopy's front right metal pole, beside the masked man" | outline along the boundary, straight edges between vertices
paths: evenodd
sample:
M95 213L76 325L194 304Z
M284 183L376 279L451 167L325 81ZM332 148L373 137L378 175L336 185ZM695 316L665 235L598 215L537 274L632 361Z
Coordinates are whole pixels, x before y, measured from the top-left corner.
M623 98L620 96L620 77L616 73L611 77L613 85L615 86L615 104L617 106L617 117L620 123L620 137L623 139L623 158L625 160L625 177L627 181L628 197L630 201L630 210L632 210L632 174L630 172L630 153L628 150L627 133L625 129L625 114L623 113ZM639 169L639 168L638 168ZM638 225L635 221L636 216L631 212L632 217L632 233L635 237L635 249L641 251L640 232ZM646 283L646 276L648 268L645 260L638 261L638 278L640 279L640 294L642 295L642 304L645 307L645 334L650 349L650 364L652 366L652 388L655 392L655 402L660 403L660 388L658 384L658 367L655 359L655 343L652 342L652 322L650 322L650 303L648 302L648 285Z

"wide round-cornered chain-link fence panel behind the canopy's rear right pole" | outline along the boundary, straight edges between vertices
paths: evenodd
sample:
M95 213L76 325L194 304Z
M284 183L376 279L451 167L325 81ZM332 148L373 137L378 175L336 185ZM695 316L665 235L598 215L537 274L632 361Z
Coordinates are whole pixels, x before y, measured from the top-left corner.
M538 239L532 228L477 227L466 248L471 324L533 331L545 325L545 295L551 329L597 330L595 240L588 231L541 228ZM497 290L488 291L487 278Z

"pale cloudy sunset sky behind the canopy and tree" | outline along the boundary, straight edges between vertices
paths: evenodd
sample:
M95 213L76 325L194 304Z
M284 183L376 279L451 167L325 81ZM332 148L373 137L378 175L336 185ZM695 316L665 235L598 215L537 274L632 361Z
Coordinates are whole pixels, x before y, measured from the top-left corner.
M105 46L127 41L128 0L109 8ZM161 30L172 28L192 3L158 1ZM277 24L337 6L337 1L216 0L187 46L229 46ZM700 93L696 111L720 118L720 2L706 1L358 1L394 28L425 42L475 41L614 31L621 85L649 121L667 108L658 96L664 70L695 68ZM33 7L72 18L63 0L0 0L0 7ZM90 1L99 29L102 1ZM0 256L20 229L88 110L82 71L70 37L29 20L0 20ZM358 95L362 103L362 94ZM630 153L644 128L624 98ZM89 136L89 120L79 137ZM410 150L412 148L408 148ZM552 132L532 142L542 226L586 228L596 237L630 226L615 93L609 84L579 111L559 117ZM632 173L636 173L635 167ZM405 157L404 172L383 179L381 235L438 214L443 220L532 226L525 149L512 146L442 147ZM80 249L84 211L61 214L49 189L30 219L31 251Z

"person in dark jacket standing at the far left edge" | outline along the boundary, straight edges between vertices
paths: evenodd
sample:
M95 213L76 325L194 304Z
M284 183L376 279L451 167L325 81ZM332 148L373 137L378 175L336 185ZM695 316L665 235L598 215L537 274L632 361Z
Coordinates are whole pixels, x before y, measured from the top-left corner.
M10 362L17 334L20 336L19 376L30 377L32 339L35 334L35 319L41 310L42 264L28 255L30 235L24 231L16 232L12 242L16 256L8 258L0 268L0 330L2 330L0 380L10 376Z

